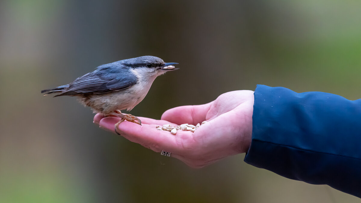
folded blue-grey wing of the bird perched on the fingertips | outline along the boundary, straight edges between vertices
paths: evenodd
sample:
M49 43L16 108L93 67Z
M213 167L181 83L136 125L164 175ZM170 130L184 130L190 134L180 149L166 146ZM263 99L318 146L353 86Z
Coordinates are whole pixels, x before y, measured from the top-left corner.
M131 72L109 73L106 70L100 70L75 79L64 92L56 96L88 93L103 94L123 90L134 85L136 81L137 77Z

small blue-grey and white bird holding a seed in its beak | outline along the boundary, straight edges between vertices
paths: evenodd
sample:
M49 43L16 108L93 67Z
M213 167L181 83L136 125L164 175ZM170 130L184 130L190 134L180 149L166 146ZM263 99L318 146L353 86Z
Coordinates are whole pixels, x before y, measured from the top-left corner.
M130 114L123 114L121 110L130 111L151 88L157 76L177 70L173 65L165 63L155 56L140 56L132 59L112 62L98 66L95 71L75 79L68 85L42 90L44 96L60 93L56 96L77 96L80 103L91 107L94 113L103 116L118 116L121 118L114 125L117 132L118 125L124 120L142 125L139 118ZM138 122L136 122L138 121Z

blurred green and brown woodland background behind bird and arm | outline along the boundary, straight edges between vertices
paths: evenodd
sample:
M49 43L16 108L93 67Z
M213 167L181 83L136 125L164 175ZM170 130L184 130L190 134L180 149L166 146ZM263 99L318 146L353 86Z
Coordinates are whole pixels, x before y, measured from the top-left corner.
M75 98L43 97L96 66L179 62L130 113L203 104L256 84L361 98L361 2L0 1L0 202L360 202L244 163L202 169L92 124Z

